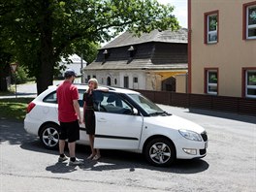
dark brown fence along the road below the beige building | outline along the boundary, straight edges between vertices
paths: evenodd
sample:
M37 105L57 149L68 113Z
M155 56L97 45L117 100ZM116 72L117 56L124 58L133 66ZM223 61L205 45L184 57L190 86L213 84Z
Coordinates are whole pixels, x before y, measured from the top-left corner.
M256 100L239 97L136 90L157 104L256 115Z

